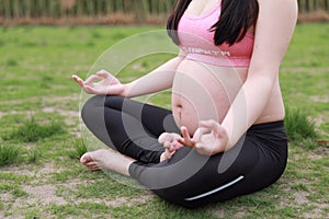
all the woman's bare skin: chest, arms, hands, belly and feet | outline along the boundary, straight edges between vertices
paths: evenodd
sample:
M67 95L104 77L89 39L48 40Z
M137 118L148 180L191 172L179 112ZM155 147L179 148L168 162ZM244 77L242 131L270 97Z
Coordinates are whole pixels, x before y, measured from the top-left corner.
M206 13L215 3L214 0L193 0L188 13ZM72 78L91 94L132 97L172 88L172 112L182 137L167 132L159 137L166 148L161 161L170 159L181 147L216 154L234 147L251 125L284 118L279 68L296 20L296 0L259 0L258 22L250 28L254 33L254 46L249 68L200 64L180 54L127 84L106 71L90 76L86 81L78 76ZM207 95L197 95L204 93ZM114 157L120 162L110 164ZM107 169L126 175L132 162L134 159L111 150L103 155L94 151L81 157L81 163L91 170Z

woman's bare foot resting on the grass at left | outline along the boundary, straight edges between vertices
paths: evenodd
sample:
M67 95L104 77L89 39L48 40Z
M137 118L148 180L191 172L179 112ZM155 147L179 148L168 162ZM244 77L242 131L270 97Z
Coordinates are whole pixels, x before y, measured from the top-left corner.
M128 168L135 160L109 149L87 152L80 158L82 165L92 171L110 170L129 175Z

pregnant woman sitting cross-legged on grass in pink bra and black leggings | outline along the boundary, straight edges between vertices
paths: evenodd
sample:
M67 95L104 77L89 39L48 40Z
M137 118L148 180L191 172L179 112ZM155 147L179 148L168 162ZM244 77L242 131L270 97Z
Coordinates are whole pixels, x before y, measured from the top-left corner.
M175 58L126 84L104 70L72 77L97 94L82 119L111 148L81 163L189 208L273 184L287 160L279 69L296 19L296 0L178 1L167 24ZM172 111L129 99L169 88Z

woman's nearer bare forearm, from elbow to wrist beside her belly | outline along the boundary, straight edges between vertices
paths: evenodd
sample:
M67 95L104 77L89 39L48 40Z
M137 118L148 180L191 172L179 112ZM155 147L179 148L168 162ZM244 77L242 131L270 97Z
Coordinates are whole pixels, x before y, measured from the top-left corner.
M259 118L270 99L273 84L271 77L262 76L247 80L241 87L222 123L229 139L225 150L232 148Z

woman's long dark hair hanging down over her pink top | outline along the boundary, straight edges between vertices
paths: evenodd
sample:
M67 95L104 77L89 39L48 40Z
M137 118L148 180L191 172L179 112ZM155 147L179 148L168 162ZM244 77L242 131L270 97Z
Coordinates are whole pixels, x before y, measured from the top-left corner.
M180 19L192 0L179 0L167 22L167 32L175 44L180 44L177 30ZM259 13L257 0L222 0L218 21L209 31L215 32L214 43L232 45L241 41L248 28L256 24Z

